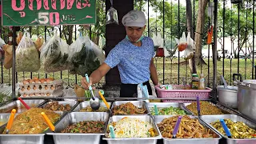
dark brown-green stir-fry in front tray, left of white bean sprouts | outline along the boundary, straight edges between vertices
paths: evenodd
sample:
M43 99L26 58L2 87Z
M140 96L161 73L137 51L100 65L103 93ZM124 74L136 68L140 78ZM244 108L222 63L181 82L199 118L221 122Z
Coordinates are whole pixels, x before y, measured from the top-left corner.
M104 122L83 121L67 126L62 133L102 133L105 128Z

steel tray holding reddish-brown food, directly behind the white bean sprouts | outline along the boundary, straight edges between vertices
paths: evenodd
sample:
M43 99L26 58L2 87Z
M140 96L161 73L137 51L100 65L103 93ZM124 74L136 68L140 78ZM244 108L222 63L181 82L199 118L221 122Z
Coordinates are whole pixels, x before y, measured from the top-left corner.
M149 109L147 108L146 102L144 102L144 101L116 101L116 102L113 102L112 106L111 106L112 112L113 112L114 106L119 106L119 105L122 105L122 104L128 103L128 102L131 102L132 104L134 104L134 106L137 106L138 108L146 109L146 114L150 114ZM136 114L136 115L145 115L145 114Z

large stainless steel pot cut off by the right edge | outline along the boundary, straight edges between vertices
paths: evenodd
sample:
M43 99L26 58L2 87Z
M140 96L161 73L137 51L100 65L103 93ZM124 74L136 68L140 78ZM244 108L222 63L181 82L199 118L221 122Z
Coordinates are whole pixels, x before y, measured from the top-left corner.
M256 80L238 83L238 110L256 120Z

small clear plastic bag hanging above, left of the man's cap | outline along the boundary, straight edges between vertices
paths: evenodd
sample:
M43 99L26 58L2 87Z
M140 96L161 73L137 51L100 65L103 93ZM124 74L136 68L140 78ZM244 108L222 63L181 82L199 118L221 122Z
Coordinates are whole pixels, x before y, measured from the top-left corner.
M107 10L106 13L106 25L115 23L118 24L118 10L115 10L113 7L113 0L110 0L111 7L110 10Z

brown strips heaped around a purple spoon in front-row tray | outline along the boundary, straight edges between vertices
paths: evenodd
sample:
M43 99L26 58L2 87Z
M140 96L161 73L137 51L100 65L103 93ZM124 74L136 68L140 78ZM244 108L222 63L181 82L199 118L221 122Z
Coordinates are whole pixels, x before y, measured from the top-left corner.
M164 138L172 138L173 130L176 122L178 120L178 115L170 118L164 118L162 122L158 123L158 128ZM182 117L180 126L178 128L178 133L176 138L214 138L215 134L210 130L205 128L198 122L197 118L190 118L187 115Z

